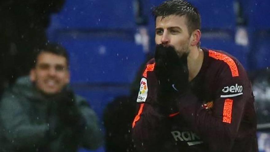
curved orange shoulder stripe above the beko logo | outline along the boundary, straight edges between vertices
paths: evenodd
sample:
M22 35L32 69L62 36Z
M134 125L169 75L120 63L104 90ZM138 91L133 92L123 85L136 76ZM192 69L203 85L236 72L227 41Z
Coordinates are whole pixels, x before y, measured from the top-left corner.
M224 61L225 63L227 63L229 65L231 72L232 72L232 76L233 77L239 76L237 66L232 58L228 57L225 54L215 52L213 50L209 50L209 57Z

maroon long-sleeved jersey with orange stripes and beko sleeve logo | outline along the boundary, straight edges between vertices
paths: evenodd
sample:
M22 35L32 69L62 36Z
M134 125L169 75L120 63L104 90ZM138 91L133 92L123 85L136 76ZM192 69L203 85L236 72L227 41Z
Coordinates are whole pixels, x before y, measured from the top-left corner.
M254 96L245 69L225 52L203 52L202 67L190 82L191 91L164 98L176 103L169 115L164 115L158 106L155 61L148 62L133 121L137 151L258 151Z

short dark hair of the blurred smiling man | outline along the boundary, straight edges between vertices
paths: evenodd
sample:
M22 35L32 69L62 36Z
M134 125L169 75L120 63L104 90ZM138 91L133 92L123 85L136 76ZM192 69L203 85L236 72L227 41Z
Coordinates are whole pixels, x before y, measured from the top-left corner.
M34 50L33 53L33 68L36 66L37 63L37 57L41 54L41 53L52 53L52 54L56 54L59 56L63 56L66 58L67 60L67 66L69 65L69 57L68 57L68 53L67 50L60 44L56 44L56 43L46 43L44 45L39 46L38 48L36 48Z

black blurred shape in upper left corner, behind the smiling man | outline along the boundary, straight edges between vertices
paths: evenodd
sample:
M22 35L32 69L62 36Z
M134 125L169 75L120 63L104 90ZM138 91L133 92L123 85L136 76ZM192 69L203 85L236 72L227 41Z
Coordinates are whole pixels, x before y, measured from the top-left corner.
M0 95L31 66L33 49L47 41L50 14L61 10L65 0L0 1Z

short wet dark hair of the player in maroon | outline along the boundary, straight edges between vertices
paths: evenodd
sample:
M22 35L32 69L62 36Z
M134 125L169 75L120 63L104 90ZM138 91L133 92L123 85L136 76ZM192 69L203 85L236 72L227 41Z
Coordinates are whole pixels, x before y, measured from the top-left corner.
M195 29L201 29L201 17L199 11L189 2L183 0L165 1L157 7L153 7L152 14L155 21L158 16L164 18L169 15L186 15L187 28L190 35Z

